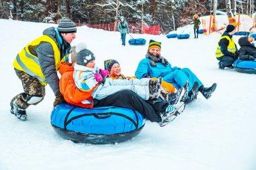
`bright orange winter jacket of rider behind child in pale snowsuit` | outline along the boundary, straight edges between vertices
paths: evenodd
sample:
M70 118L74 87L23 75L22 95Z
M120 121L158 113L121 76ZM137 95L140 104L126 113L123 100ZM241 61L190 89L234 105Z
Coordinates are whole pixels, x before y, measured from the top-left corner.
M80 91L75 86L75 81L73 80L74 69L71 67L71 65L72 64L68 62L61 62L59 64L59 73L61 73L59 89L61 94L68 103L78 105L82 108L92 108L94 105L93 97L91 96L92 91L94 91L98 85L96 85L91 91Z

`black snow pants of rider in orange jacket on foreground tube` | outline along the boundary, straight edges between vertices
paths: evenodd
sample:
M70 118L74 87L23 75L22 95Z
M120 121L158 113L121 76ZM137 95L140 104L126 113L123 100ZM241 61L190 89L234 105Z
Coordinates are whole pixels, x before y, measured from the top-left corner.
M150 120L151 122L161 122L159 114L156 113L152 105L141 99L139 95L131 90L123 90L114 93L113 95L108 95L108 97L99 100L94 107L110 105L137 110L139 113L143 114L147 120Z

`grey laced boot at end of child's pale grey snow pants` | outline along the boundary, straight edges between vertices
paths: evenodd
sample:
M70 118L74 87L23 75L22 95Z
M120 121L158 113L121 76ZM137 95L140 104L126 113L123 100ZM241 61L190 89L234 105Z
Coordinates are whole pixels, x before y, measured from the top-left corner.
M149 99L157 99L160 95L161 91L161 84L162 84L162 77L159 77L157 81L150 79L148 84L150 89L150 97Z

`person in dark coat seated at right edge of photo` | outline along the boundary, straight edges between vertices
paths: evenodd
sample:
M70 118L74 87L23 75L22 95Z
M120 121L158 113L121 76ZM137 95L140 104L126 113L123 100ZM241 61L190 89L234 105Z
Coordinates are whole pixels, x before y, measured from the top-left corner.
M256 58L254 41L254 38L251 36L243 36L238 40L238 44L241 46L238 57L241 60L254 60Z

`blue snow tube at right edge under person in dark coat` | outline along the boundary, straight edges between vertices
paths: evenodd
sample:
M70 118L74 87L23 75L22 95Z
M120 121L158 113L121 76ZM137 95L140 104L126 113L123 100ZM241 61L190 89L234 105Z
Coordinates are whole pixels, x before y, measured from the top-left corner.
M240 60L236 59L233 63L235 71L240 73L256 74L256 59L254 60Z

